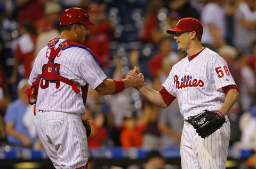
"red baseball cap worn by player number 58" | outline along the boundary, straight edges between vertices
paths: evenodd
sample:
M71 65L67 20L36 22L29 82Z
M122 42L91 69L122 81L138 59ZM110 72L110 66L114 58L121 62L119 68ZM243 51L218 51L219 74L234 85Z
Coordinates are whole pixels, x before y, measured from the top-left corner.
M198 34L203 35L203 26L202 23L195 18L182 18L175 28L166 30L169 34L183 31L195 31Z

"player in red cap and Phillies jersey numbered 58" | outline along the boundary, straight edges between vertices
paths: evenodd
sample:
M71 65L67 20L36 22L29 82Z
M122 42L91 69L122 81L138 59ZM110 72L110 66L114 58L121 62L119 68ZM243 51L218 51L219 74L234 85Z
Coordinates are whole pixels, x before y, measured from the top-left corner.
M172 67L161 91L137 87L151 103L166 108L177 98L184 119L181 136L181 166L209 169L226 166L230 123L227 113L236 102L239 89L226 61L201 44L203 27L194 18L183 18L173 34L179 50L187 57ZM127 78L136 77L139 69Z

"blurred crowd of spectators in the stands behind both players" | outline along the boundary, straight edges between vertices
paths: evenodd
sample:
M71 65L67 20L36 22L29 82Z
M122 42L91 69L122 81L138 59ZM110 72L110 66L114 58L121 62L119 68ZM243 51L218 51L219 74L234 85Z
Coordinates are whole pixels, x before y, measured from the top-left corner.
M3 0L0 2L0 142L42 148L34 129L34 106L24 93L34 59L60 36L59 16L68 7L88 11L85 46L97 53L108 78L122 79L137 65L147 85L161 90L172 66L186 56L166 33L181 18L202 22L202 44L228 63L239 99L228 113L230 146L256 151L255 0ZM89 90L86 114L93 128L89 148L179 146L183 119L177 100L160 109L137 90L100 96ZM256 168L254 156L246 165ZM145 167L146 168L146 167Z

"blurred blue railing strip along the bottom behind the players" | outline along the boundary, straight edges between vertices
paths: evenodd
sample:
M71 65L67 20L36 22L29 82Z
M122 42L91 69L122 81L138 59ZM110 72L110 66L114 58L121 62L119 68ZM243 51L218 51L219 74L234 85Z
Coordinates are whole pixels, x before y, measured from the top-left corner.
M177 159L180 158L180 148L164 148L160 149L162 155L165 158ZM89 153L95 159L143 159L148 152L147 149L142 148L130 148L123 149L120 147L102 147L102 148L91 148ZM239 149L235 147L229 147L228 158L231 159L245 159L252 154L251 149ZM33 150L31 148L14 148L14 147L3 147L0 148L0 160L8 159L47 159L47 154L42 150Z

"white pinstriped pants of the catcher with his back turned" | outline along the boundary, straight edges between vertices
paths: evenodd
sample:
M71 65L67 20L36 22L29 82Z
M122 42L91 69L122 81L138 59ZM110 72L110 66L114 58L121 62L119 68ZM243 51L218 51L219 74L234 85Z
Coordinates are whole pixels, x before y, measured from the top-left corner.
M55 168L86 165L89 155L80 115L37 111L36 131Z

